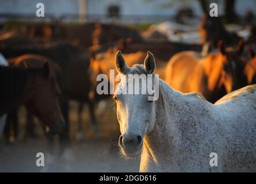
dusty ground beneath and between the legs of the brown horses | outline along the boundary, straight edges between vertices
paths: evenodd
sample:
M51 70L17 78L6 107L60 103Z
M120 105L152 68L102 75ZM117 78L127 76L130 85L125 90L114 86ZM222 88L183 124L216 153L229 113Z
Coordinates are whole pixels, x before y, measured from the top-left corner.
M18 139L12 144L0 141L0 172L138 172L139 160L125 160L118 154L113 137L118 133L118 122L111 102L107 111L98 116L101 137L95 136L88 118L87 107L83 110L83 140L76 139L77 104L71 102L71 144L61 151L60 143L55 137L49 144L36 123L36 139L28 138L24 133L24 109L20 110L20 131ZM43 152L45 166L36 166L36 153Z

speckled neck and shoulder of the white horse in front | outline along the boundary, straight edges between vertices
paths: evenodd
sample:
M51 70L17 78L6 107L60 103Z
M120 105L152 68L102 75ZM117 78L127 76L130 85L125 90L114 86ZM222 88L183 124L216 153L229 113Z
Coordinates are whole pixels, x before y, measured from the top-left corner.
M162 102L159 101L160 104L156 107L154 128L144 137L140 168L142 171L151 171L151 168L159 168L159 171L179 171L180 168L186 167L185 164L180 165L184 156L181 154L186 149L184 143L191 145L193 141L201 141L202 132L198 131L195 125L201 128L209 126L205 121L214 120L214 117L210 116L214 109L212 104L198 93L182 94L162 81L160 90L162 97L159 93L159 99L162 98ZM198 132L198 136L191 136L190 133L194 134L194 131ZM189 138L190 136L192 138Z

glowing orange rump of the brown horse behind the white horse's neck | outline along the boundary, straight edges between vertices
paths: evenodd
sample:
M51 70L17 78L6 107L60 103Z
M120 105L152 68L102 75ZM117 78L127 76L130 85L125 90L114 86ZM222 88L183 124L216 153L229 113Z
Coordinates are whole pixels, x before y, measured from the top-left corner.
M174 89L183 93L191 92L189 89L189 78L198 66L199 53L184 51L174 55L166 67L166 82Z

